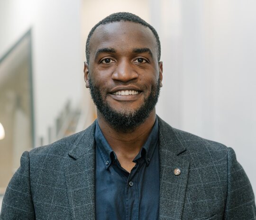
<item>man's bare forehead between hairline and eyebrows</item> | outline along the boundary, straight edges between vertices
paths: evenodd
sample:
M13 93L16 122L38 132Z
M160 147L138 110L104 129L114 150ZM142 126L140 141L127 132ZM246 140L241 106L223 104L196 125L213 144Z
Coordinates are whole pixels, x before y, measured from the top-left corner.
M146 26L128 21L98 26L91 35L91 58L100 48L113 48L120 52L149 48L153 56L157 57L157 44L152 31Z

